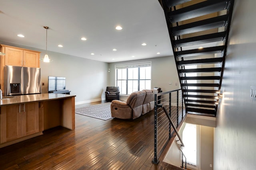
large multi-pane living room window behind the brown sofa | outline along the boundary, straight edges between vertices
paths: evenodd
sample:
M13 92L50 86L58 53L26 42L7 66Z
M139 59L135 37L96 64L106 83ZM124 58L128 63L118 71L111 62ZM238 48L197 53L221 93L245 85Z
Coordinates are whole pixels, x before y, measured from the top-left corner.
M120 94L151 89L151 63L116 65L116 85Z

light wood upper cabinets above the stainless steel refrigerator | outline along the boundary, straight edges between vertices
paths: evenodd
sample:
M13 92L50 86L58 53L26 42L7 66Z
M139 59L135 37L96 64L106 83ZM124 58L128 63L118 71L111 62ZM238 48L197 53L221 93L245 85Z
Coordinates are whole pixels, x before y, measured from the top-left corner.
M8 45L0 45L1 52L5 53L1 59L1 65L24 66L24 67L40 67L39 51L32 51Z

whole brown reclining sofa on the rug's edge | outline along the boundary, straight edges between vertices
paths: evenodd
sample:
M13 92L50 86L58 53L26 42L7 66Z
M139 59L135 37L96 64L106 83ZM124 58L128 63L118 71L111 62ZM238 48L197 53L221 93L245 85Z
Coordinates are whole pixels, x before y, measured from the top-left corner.
M154 109L154 95L158 90L142 90L133 92L126 102L113 100L111 116L119 119L136 119Z

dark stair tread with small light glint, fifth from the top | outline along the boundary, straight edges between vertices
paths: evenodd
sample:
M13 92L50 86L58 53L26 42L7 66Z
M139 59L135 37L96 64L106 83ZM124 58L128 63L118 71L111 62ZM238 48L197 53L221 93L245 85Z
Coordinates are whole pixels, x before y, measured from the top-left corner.
M174 54L177 57L190 57L190 56L197 56L197 55L222 53L223 50L224 50L224 45L221 45L221 46L216 46L216 47L207 47L207 48L203 48L203 49L176 51Z

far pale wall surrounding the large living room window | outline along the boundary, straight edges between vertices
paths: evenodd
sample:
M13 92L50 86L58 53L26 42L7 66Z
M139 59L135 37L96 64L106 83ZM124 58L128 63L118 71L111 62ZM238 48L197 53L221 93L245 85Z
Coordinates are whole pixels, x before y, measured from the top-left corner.
M116 72L115 65L118 64L128 64L128 63L141 63L151 61L151 87L160 87L163 92L167 92L170 90L176 90L180 88L179 86L179 78L177 73L176 64L174 61L174 57L158 57L152 59L144 59L144 60L135 60L135 61L126 61L126 62L118 62L118 63L110 63L110 73L109 73L109 86L116 86ZM169 82L172 84L169 84ZM177 85L175 85L177 83Z

